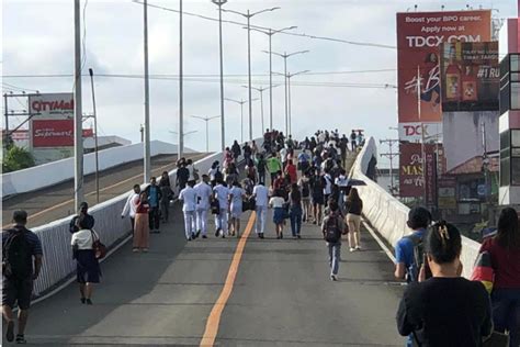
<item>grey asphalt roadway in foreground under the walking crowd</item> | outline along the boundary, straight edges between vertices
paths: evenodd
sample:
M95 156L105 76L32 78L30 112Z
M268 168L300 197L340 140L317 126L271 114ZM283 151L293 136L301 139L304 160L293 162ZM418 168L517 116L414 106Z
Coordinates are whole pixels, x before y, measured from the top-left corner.
M133 254L128 243L102 264L92 306L80 303L76 284L35 304L29 343L199 346L238 240L211 234L188 243L178 205L173 216L151 235L148 254ZM245 213L242 228L248 219ZM215 345L403 346L394 318L403 288L366 231L362 251L350 254L343 244L340 280L331 282L317 226L304 225L302 239L287 238L286 231L278 240L271 213L268 221L265 239L246 238Z

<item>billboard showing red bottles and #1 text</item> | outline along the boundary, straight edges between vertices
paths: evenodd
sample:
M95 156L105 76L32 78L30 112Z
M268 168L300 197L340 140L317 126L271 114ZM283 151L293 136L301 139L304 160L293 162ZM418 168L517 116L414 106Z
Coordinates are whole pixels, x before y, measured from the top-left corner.
M498 42L441 46L442 111L497 111Z

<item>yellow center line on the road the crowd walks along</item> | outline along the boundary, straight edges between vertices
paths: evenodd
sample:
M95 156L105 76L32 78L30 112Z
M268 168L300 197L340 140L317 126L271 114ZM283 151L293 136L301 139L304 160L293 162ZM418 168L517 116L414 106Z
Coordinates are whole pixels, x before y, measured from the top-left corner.
M240 260L242 258L244 248L246 247L246 242L251 234L252 226L255 225L256 213L251 212L251 216L249 217L249 222L246 226L246 232L244 233L242 237L238 242L237 249L235 250L235 255L233 256L231 265L229 266L229 271L227 272L226 282L224 283L224 288L222 289L221 295L218 296L215 305L207 317L206 329L204 331L204 335L202 336L201 346L213 346L215 344L216 336L218 334L218 325L221 323L221 316L226 306L229 296L231 295L233 287L235 284L235 280L238 273L238 266L240 265Z

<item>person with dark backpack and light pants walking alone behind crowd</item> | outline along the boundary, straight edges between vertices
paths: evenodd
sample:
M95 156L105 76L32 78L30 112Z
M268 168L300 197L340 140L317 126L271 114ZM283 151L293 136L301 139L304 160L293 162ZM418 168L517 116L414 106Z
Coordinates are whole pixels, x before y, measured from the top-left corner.
M339 260L341 257L341 235L346 232L344 222L338 213L336 201L329 203L330 213L324 219L321 233L329 249L330 280L338 280Z

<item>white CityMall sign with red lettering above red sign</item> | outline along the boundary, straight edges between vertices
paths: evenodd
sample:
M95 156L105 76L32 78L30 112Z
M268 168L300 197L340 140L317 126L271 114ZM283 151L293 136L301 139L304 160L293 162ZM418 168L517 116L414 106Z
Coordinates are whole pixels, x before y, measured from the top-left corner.
M74 117L74 94L45 93L29 96L29 111L33 120L64 120Z

